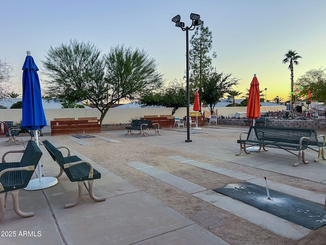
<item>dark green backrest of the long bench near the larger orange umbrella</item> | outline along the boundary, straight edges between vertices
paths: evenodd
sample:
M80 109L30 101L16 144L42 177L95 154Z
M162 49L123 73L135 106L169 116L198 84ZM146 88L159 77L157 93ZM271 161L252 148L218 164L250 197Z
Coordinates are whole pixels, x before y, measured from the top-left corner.
M302 137L311 137L312 129L305 128L279 128L279 127L264 127L252 126L250 127L250 136L254 136L258 140L271 140L279 139L282 142L298 143ZM248 135L248 138L250 138ZM308 145L309 140L303 140L303 145Z

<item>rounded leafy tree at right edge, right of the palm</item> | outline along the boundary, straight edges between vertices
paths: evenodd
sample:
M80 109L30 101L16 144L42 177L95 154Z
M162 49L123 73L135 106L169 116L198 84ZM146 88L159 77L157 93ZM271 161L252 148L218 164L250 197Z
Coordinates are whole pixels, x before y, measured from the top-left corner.
M316 69L311 69L306 72L305 75L301 76L296 80L296 86L300 87L300 93L298 96L300 99L307 100L308 93L312 93L312 99L314 101L326 102L326 68L321 67Z

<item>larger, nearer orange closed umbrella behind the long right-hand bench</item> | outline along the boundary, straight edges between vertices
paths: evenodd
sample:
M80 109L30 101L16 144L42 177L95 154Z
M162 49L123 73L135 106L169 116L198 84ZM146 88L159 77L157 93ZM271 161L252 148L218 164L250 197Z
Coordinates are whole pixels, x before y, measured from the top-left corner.
M248 105L247 105L247 117L253 119L253 126L255 126L255 119L260 117L260 93L259 82L254 74L253 81L250 84Z

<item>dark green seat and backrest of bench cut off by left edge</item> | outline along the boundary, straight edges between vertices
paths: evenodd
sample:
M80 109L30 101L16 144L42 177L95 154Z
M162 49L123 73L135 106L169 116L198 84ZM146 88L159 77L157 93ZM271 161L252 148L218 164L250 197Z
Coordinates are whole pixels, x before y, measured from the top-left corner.
M40 148L33 140L29 140L18 167L26 167L33 165L34 169L36 169L36 166L40 161L41 156L42 152ZM33 176L34 169L10 171L4 173L1 177L1 183L4 185L4 191L1 192L25 188L29 184Z

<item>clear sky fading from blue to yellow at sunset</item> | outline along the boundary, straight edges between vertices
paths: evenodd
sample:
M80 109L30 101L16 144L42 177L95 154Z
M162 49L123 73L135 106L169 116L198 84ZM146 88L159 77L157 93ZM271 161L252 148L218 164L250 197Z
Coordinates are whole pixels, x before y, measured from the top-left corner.
M0 59L13 62L18 93L26 51L32 52L42 82L40 60L50 46L70 39L93 42L103 53L118 44L144 48L166 82L179 80L185 72L185 33L171 19L180 14L189 26L190 13L200 14L212 32L218 55L213 66L241 79L236 90L246 92L257 74L268 100L286 99L290 71L282 60L290 49L303 57L294 67L294 81L310 69L326 68L324 0L0 0Z

